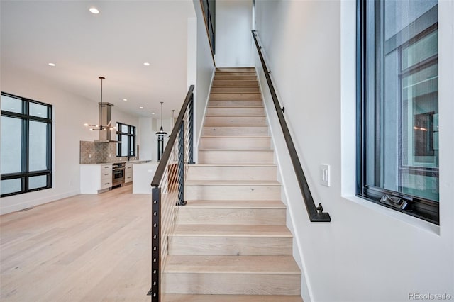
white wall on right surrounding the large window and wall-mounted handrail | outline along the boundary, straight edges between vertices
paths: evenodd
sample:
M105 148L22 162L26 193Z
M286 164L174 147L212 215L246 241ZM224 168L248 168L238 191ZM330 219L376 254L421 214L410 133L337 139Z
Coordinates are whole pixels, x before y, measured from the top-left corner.
M332 218L310 223L294 175L282 173L292 165L259 68L304 301L409 301L413 292L454 298L454 1L439 2L439 227L353 196L355 1L255 6L268 68L314 200ZM331 165L331 187L319 184L320 164Z

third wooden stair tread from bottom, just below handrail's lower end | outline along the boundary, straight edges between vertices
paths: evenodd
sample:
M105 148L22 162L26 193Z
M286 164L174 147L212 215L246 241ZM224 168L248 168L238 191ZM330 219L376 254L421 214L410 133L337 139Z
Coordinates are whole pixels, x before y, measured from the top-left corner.
M285 225L175 225L171 236L293 237Z

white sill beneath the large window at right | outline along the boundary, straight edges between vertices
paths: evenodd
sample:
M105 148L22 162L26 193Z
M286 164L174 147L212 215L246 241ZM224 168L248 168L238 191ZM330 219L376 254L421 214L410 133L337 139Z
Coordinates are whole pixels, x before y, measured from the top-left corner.
M391 208L387 208L384 206L380 206L377 203L373 203L371 201L367 201L366 199L360 198L358 196L342 196L347 201L352 201L357 203L360 206L368 208L372 211L380 213L384 216L388 216L390 218L394 218L395 220L399 220L402 223L406 223L407 225L411 225L414 228L419 228L420 230L424 230L428 233L434 235L440 235L440 226L435 225L433 223L429 223L425 220L416 218L411 215L407 215L405 213L394 211Z

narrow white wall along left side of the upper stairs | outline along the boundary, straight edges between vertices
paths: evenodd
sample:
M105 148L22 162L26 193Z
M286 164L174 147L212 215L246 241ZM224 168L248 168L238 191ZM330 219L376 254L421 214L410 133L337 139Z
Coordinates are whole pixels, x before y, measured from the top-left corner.
M192 70L188 70L188 74L191 73L192 77L188 76L188 79L196 79L196 82L194 83L194 131L196 135L194 142L196 142L196 146L198 146L202 125L204 123L206 106L208 104L209 94L211 90L211 82L214 77L215 67L213 57L211 56L211 49L209 45L208 35L206 34L204 16L201 11L201 4L199 0L194 0L194 9L196 12L196 30L194 28L195 26L192 26L193 30L190 37L196 40L196 57L194 56L194 52L192 52L193 63L192 65L188 64L188 67L192 67ZM194 152L195 162L197 162L198 160L197 151L198 147L196 147L196 151Z

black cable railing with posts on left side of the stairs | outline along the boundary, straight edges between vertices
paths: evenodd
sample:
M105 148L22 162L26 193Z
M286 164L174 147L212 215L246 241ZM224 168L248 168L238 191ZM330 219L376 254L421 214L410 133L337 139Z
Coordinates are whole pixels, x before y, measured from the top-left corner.
M194 85L189 87L186 99L165 147L152 188L151 234L151 301L160 301L162 268L168 255L169 235L175 228L180 206L184 206L184 179L189 164L194 164Z

